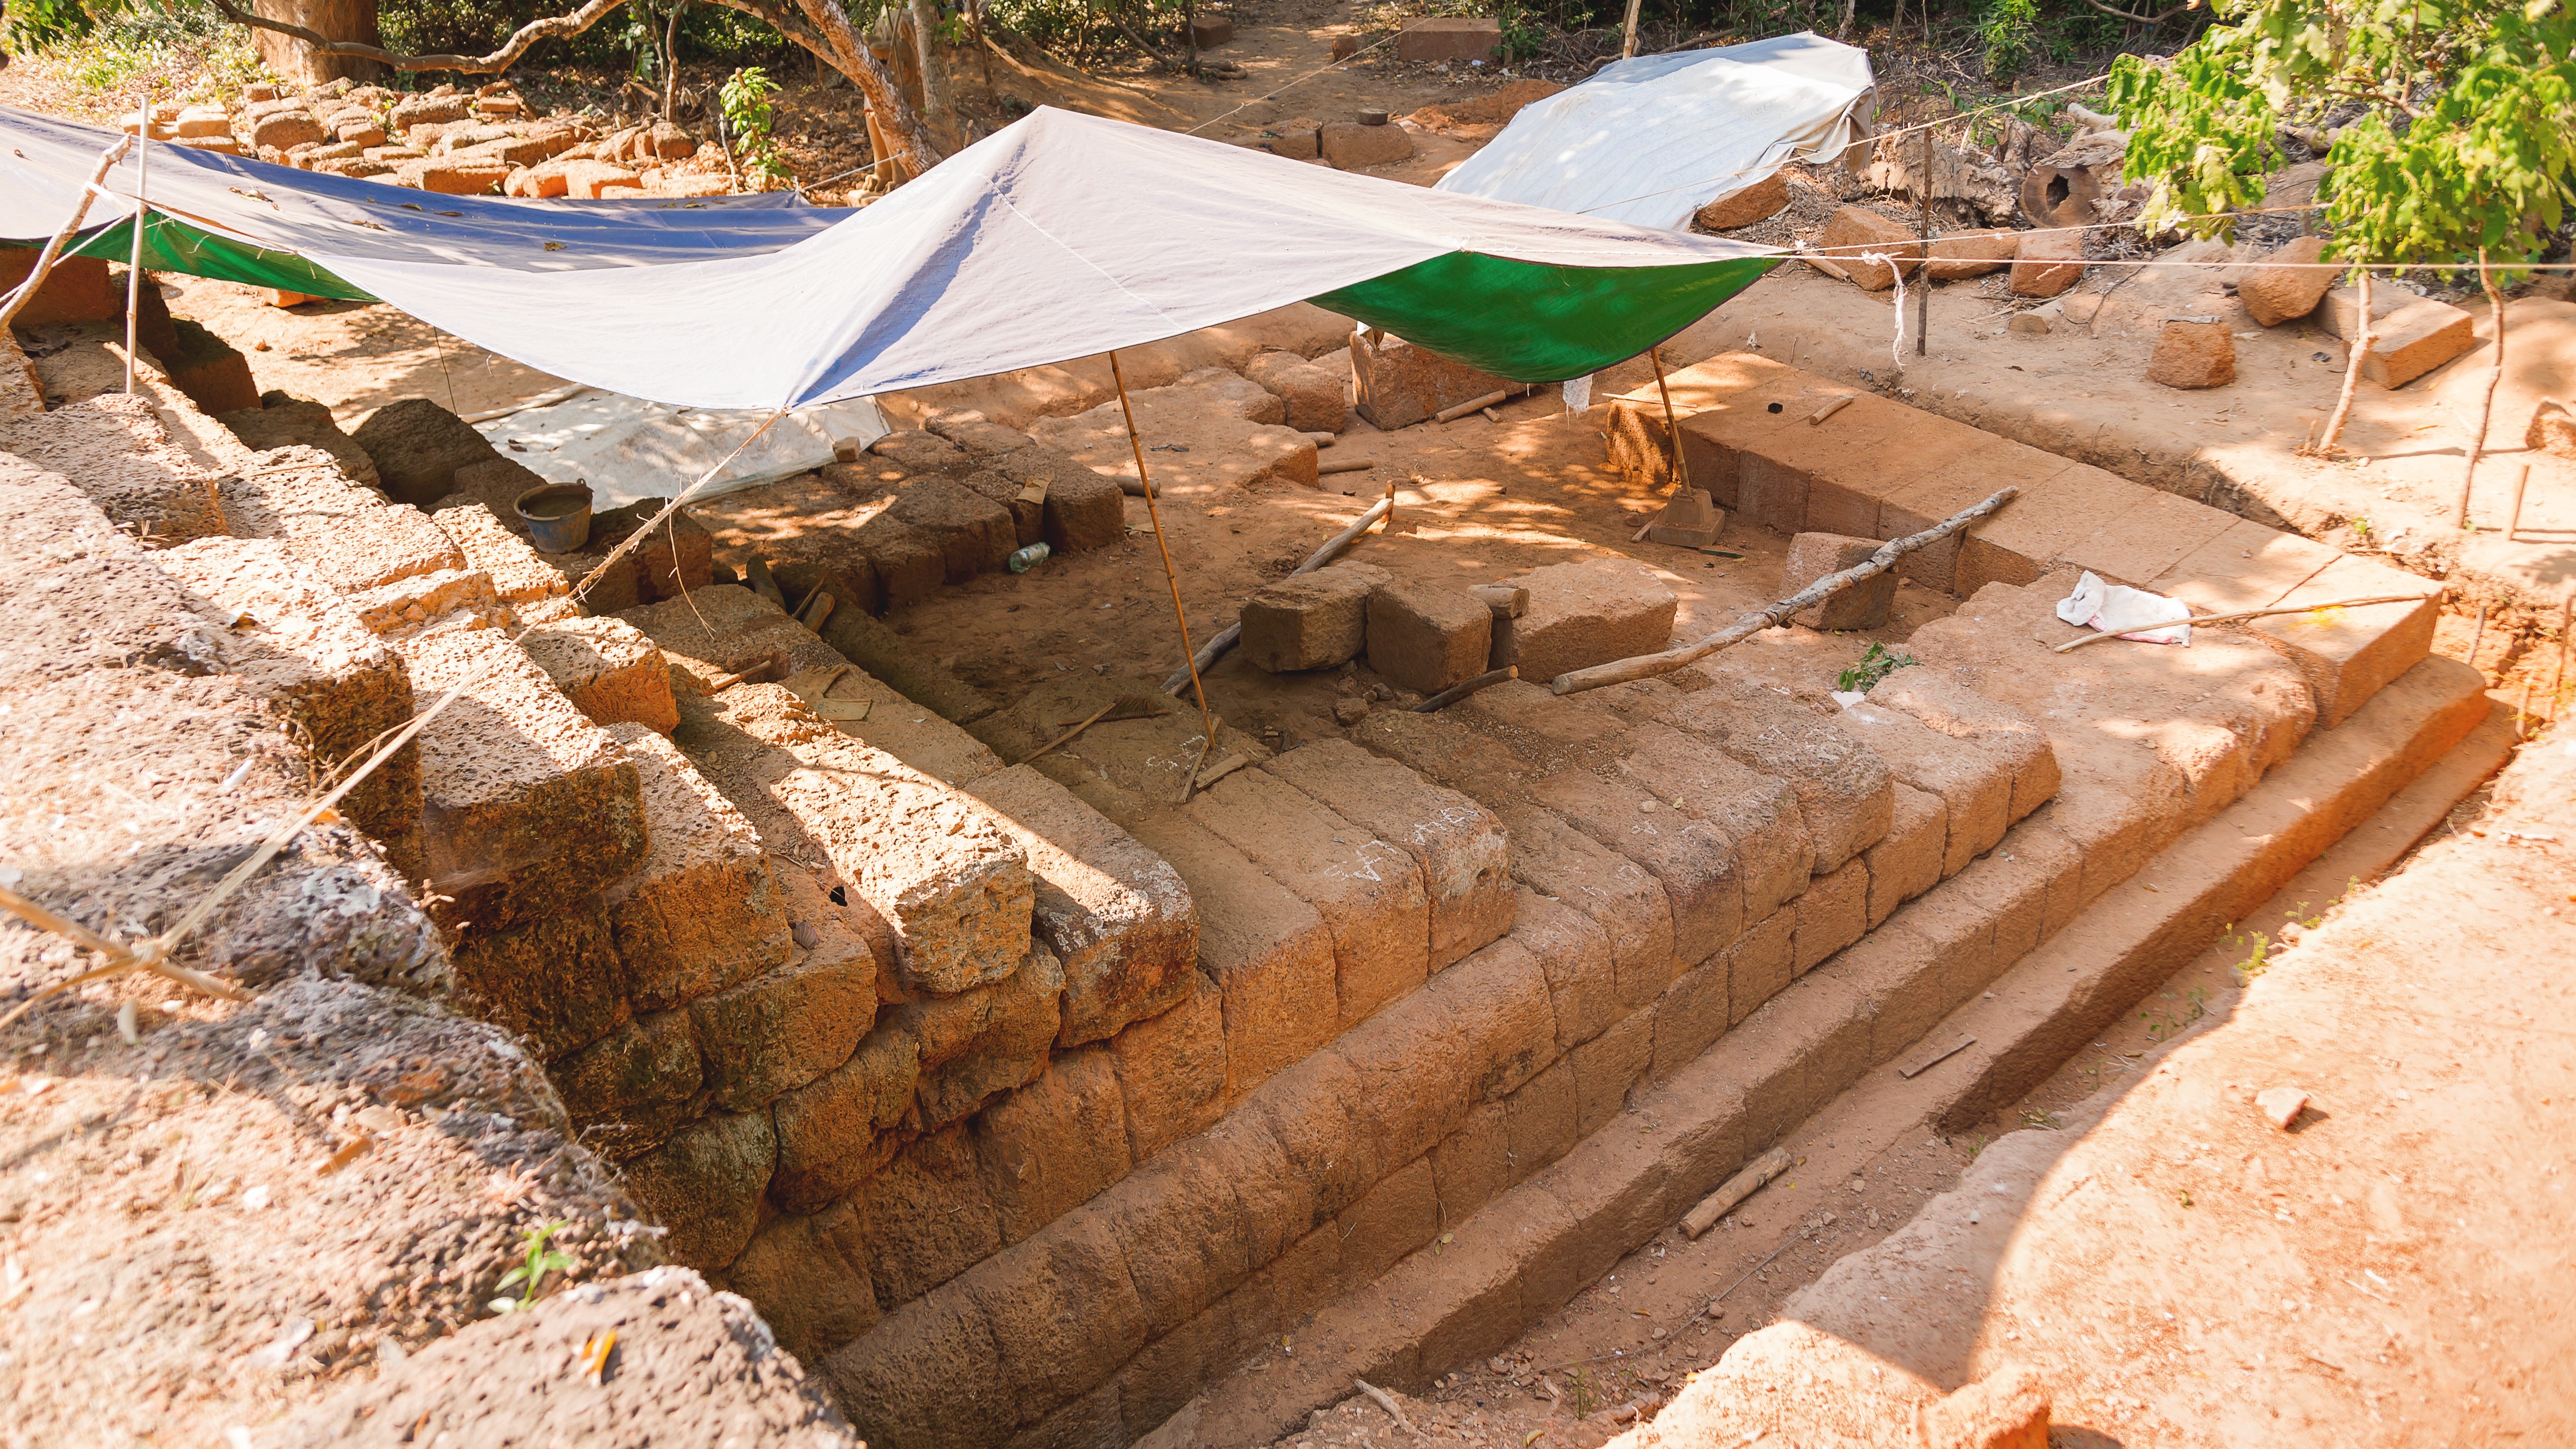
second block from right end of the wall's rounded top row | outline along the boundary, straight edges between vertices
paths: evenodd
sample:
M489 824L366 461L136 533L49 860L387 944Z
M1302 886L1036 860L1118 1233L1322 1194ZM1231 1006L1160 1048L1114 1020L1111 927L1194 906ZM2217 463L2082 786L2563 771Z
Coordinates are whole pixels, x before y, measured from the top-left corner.
M1839 869L1888 833L1896 802L1888 763L1772 688L1703 663L1602 696L1613 709L1662 719L1785 784L1808 833L1811 871Z

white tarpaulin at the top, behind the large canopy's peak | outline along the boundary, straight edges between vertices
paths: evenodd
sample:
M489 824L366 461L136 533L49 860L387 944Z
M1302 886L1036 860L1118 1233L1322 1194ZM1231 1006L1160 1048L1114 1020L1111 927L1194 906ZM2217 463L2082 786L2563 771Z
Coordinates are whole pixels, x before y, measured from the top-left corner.
M1814 31L1605 67L1512 116L1440 191L1682 229L1793 160L1868 134L1870 52Z

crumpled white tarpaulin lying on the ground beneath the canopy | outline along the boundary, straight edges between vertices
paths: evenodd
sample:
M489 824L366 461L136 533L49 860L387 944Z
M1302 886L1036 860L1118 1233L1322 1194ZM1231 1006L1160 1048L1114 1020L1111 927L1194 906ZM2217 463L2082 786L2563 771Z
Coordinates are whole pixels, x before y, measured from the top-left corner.
M793 477L832 462L840 443L868 446L886 436L871 397L793 407L760 433L768 418L760 410L665 407L587 389L474 428L546 482L587 482L592 508L603 511L639 498L677 498L726 456L724 474L698 498ZM760 436L734 454L752 433Z

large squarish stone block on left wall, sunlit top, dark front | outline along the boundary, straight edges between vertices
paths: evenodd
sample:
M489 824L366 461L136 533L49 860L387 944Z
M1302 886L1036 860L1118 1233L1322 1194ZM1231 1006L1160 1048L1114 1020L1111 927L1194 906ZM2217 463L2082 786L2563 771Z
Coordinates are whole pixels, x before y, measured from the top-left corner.
M420 732L422 848L440 923L492 931L644 866L634 761L497 629L402 639L422 699L461 691Z

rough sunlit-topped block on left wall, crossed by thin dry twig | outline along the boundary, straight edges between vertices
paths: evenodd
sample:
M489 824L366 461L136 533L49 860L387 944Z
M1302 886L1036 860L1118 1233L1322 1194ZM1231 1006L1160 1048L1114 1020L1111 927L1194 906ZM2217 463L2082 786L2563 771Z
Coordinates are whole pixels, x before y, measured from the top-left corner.
M317 763L337 766L412 717L402 657L358 624L276 539L196 539L155 562L214 619L224 673L276 701ZM353 789L348 817L374 838L420 820L420 748L404 745Z

